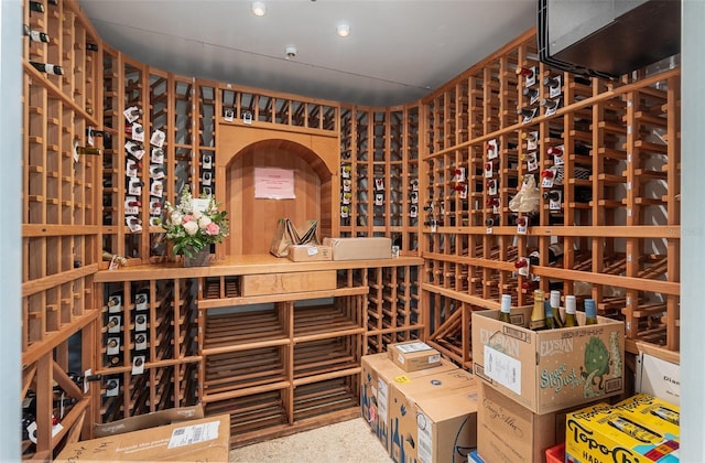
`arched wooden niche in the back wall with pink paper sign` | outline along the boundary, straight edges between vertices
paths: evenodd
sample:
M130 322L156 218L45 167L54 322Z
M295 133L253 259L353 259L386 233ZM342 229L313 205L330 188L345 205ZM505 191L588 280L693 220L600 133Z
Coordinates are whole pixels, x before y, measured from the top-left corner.
M301 133L260 130L264 133L259 133L257 139L257 129L252 129L228 127L229 131L249 137L231 137L229 143L218 143L217 148L216 161L220 166L220 177L225 180L226 196L219 201L226 203L230 217L230 237L226 241L225 254L268 254L281 217L291 218L297 225L316 219L319 238L337 236L338 224L332 223L335 216L332 211L334 192L339 191L337 137L302 137ZM228 140L220 137L221 142L224 139ZM295 198L254 197L257 168L291 170Z

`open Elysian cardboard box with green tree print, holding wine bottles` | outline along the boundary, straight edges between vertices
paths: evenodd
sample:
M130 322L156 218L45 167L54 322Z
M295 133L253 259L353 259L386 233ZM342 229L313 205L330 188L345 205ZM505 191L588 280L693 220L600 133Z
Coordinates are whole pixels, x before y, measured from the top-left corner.
M531 331L531 306L473 313L473 366L478 379L534 413L549 413L623 391L625 326L598 316L595 325ZM481 456L481 454L480 454Z

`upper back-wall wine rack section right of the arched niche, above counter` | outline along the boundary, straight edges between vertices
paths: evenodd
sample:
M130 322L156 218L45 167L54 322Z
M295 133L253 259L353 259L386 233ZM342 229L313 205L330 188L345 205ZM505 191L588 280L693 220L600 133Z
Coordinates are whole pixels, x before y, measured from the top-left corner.
M340 234L389 236L415 251L419 108L341 108Z

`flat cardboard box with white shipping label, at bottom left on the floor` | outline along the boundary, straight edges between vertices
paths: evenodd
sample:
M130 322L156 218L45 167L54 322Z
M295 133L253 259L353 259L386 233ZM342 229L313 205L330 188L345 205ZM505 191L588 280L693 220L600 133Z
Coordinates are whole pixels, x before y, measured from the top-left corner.
M230 416L220 414L69 443L55 462L227 462L229 452Z

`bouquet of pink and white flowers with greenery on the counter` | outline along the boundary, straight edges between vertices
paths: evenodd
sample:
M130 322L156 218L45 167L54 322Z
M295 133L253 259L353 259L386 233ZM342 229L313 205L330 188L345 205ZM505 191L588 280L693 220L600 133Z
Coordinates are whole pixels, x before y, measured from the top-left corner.
M176 206L167 201L164 207L162 226L166 230L166 239L174 244L175 255L193 258L204 247L221 243L228 236L227 212L218 211L213 196L192 197L188 185L184 186Z

